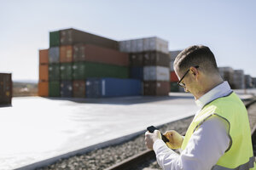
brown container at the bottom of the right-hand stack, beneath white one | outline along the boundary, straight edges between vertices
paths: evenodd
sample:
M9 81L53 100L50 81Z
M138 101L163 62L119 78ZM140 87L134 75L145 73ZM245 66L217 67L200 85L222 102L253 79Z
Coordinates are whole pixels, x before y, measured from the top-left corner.
M144 95L168 95L170 92L170 82L144 81Z

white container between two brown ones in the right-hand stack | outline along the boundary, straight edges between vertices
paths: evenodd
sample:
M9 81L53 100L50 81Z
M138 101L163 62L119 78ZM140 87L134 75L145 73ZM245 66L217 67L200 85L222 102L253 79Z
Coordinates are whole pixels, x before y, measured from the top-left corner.
M168 67L163 66L144 66L144 81L170 81L170 71Z

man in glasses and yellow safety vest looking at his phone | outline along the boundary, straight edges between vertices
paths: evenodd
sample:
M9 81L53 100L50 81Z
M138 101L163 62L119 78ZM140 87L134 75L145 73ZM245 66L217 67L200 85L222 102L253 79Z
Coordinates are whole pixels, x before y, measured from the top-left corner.
M247 110L218 73L212 51L206 46L184 49L174 61L178 84L194 95L199 111L187 133L145 133L145 144L154 149L165 170L256 169ZM181 149L180 155L171 149Z

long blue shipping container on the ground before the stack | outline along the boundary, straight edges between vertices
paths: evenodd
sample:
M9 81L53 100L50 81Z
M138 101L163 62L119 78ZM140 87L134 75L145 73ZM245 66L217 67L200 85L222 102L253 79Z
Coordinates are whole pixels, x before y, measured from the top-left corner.
M88 78L85 91L88 98L142 95L143 84L136 79Z

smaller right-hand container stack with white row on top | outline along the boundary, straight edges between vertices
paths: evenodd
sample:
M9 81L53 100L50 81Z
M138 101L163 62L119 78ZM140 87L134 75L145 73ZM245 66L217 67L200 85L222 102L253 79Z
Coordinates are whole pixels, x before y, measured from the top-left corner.
M144 95L168 95L168 42L159 37L127 40L119 42L119 50L129 53L130 76L143 81Z

